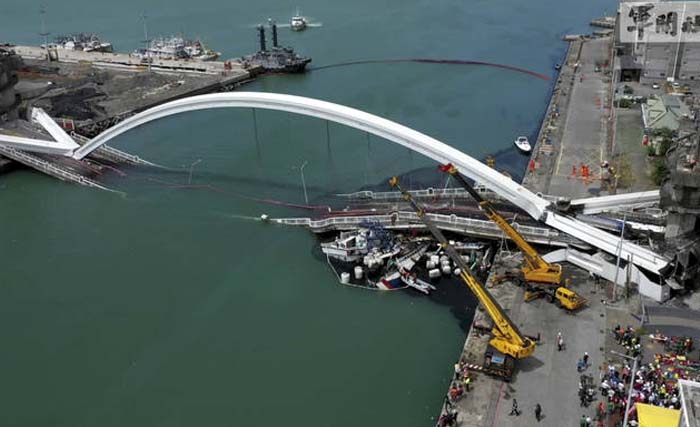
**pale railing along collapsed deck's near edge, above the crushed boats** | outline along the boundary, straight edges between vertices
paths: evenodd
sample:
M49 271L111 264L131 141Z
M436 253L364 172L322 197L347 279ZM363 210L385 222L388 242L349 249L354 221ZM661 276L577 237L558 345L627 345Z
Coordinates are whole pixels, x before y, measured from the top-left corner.
M493 222L473 218L464 218L457 215L443 215L428 213L428 217L441 229L461 234L472 234L490 238L506 237L503 231ZM270 222L275 224L303 226L311 231L319 233L330 230L353 229L366 221L378 222L386 228L406 229L424 228L420 218L414 212L396 212L385 215L358 215L350 217L334 217L312 220L311 218L275 218ZM587 247L578 239L545 227L532 227L512 224L523 237L532 243L547 244L553 246L573 245Z

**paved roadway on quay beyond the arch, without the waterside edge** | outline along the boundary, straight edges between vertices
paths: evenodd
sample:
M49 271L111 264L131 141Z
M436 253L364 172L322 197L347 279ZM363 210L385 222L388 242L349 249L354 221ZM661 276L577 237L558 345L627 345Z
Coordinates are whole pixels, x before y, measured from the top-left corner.
M605 76L594 69L597 60L607 57L609 42L609 39L595 39L583 44L549 194L576 198L601 192L599 180L591 180L588 185L584 182L581 163L590 168L592 175L599 176L600 163L606 157L607 84ZM572 177L574 166L577 175Z

